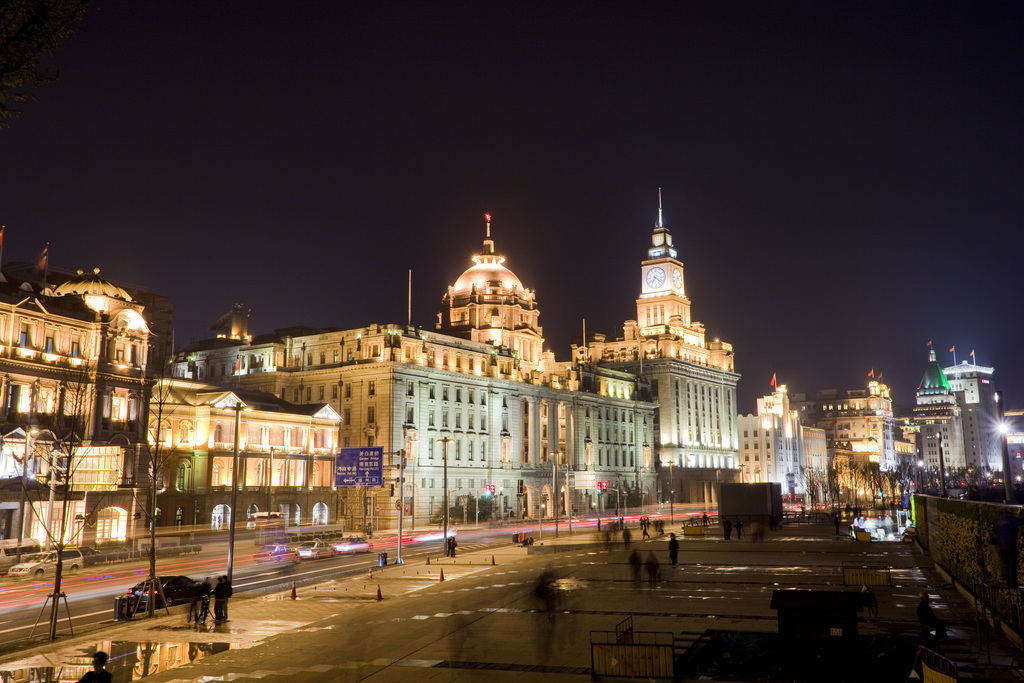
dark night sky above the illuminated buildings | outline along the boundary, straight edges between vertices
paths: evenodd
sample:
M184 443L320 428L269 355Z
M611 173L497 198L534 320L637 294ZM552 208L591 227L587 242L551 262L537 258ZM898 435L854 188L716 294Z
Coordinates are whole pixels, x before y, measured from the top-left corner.
M93 0L0 131L5 262L170 296L178 346L432 326L483 239L548 348L635 316L664 193L739 408L934 340L1024 405L1024 3Z

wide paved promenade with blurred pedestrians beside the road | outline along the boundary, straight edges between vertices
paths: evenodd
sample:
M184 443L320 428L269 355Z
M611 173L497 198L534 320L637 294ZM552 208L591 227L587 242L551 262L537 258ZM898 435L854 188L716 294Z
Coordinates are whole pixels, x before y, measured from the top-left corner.
M878 615L859 614L862 639L915 642L918 593L927 590L949 627L941 648L957 663L962 680L1024 680L1020 651L999 635L979 632L972 604L944 585L928 557L908 544L854 543L834 533L831 526L790 525L762 543L681 538L679 565L672 566L667 536L626 549L621 540L606 546L601 536L567 537L563 530L529 550L510 544L430 564L375 567L372 575L300 588L294 600L290 592L240 595L223 624L197 628L185 623L182 607L152 621L112 622L24 652L16 661L8 658L0 671L86 661L101 647L123 670L119 676L115 669L115 681L131 680L131 669L155 683L582 682L591 676L592 631L612 631L632 615L636 632L672 633L682 641L709 630L732 634L727 640L733 643L754 642L757 634L770 639L777 632L774 590L856 592L858 587L843 586L843 563L870 562L891 566L893 585L872 589ZM645 574L634 580L633 550L658 560L653 585ZM545 570L560 596L553 610L536 594ZM827 666L842 672L844 663ZM894 658L891 669L904 667L885 680L905 680L909 673ZM721 680L767 680L768 674L737 667L735 659L709 671L700 680L716 680L715 671L729 673ZM802 680L856 679L822 670L820 678Z

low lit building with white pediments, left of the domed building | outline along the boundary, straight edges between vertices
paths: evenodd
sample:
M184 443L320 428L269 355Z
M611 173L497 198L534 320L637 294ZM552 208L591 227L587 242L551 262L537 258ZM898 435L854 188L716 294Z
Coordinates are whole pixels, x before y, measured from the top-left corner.
M271 505L295 524L338 517L340 416L331 405L295 405L273 394L166 379L154 386L152 401L148 438L163 464L157 496L162 524L226 527L238 403L247 410L239 422L237 519Z

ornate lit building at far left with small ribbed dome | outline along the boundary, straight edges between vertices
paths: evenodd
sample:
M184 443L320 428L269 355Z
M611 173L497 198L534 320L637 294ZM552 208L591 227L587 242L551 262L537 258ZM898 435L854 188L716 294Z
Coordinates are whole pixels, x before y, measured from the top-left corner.
M145 483L145 309L98 268L49 284L43 274L14 266L0 275L0 536L45 542L41 520L52 519L75 544L123 541L138 505L132 488ZM69 456L70 475L54 469L55 481L70 480L63 510L63 494L51 507L42 480ZM35 508L24 525L23 474Z

